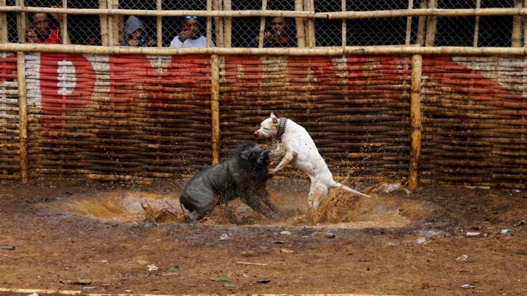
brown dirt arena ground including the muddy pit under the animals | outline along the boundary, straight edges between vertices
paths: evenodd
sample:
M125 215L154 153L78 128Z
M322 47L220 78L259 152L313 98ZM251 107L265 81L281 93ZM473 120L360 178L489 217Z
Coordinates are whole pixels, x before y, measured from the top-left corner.
M527 290L526 191L426 184L407 196L359 184L371 199L334 191L314 215L306 182L273 180L282 220L235 201L183 224L181 185L0 181L0 295ZM163 208L167 222L145 221Z

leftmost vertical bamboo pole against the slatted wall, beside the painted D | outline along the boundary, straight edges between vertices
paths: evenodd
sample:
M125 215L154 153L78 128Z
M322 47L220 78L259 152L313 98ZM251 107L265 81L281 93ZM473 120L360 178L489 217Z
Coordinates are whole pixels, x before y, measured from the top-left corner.
M22 183L27 183L27 100L25 85L25 53L16 53L16 72L18 81L18 120L20 139L20 175Z

